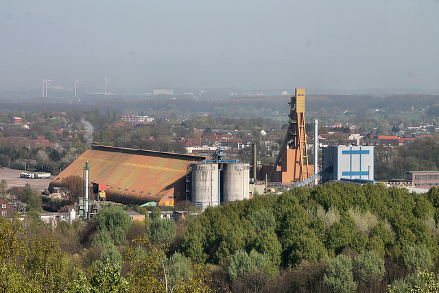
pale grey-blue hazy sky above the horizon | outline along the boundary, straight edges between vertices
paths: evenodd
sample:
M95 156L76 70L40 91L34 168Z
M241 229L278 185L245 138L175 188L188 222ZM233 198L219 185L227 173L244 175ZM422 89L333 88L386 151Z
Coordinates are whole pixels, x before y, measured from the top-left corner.
M0 42L0 90L439 89L438 0L3 0Z

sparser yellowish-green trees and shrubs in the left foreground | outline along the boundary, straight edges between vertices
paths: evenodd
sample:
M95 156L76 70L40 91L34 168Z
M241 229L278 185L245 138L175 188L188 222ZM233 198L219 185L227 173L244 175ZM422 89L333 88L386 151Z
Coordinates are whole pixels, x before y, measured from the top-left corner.
M2 292L213 292L207 271L187 257L167 256L176 224L131 222L104 207L86 222L45 224L38 214L0 218Z

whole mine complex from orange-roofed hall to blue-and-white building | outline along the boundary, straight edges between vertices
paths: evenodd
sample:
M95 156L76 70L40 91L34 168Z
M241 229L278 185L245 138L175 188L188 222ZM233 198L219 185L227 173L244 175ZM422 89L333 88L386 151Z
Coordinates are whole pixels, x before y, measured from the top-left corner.
M281 150L272 165L259 172L267 187L314 185L328 180L374 180L374 147L330 145L323 149L322 169L318 172L318 152L314 166L308 163L305 131L305 89L296 89L289 103L289 126ZM315 137L318 121L314 120ZM318 141L314 141L316 150ZM256 148L253 148L252 182L257 183ZM84 167L85 166L85 167ZM84 215L90 200L122 204L174 205L180 200L196 207L227 204L261 193L261 185L250 185L250 165L224 157L219 147L213 158L93 145L54 180L49 190L61 187L62 178L84 178ZM259 177L259 178L261 178ZM270 180L270 184L267 182ZM88 190L93 187L93 194ZM93 213L93 212L90 212Z

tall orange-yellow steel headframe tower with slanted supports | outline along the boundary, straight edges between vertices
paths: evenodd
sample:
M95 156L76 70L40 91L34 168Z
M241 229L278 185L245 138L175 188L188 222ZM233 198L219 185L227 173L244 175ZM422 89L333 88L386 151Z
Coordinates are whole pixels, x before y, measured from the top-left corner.
M307 134L305 132L305 89L296 89L296 96L289 104L289 125L270 180L276 172L281 182L303 181L309 178ZM279 160L281 165L278 166Z

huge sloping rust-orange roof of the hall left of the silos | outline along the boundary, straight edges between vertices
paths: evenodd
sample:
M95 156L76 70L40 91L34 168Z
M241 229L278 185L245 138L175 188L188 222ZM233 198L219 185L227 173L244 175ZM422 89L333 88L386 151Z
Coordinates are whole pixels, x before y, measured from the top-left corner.
M88 161L90 183L106 185L109 200L125 204L158 202L185 178L189 163L204 159L187 154L93 145L56 176L49 189L60 187L62 178L67 176L82 177Z

